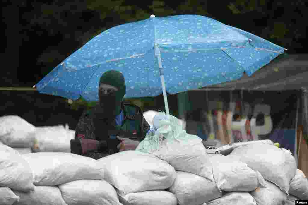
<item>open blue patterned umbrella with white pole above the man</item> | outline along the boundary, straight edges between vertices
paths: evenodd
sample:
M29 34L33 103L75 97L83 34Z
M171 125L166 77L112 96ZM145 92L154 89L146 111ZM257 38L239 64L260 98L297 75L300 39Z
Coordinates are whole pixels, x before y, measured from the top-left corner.
M124 97L164 95L250 76L284 48L199 15L177 15L105 30L72 53L36 88L40 93L98 101L99 78L123 73ZM165 77L165 78L164 78ZM166 81L164 81L166 79Z

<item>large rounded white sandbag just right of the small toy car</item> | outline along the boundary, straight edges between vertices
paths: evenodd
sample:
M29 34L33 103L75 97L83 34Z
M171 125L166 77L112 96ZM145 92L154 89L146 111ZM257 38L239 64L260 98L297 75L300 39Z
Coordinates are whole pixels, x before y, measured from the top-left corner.
M259 171L264 179L288 194L290 181L295 176L297 167L290 151L270 144L251 144L235 148L228 157L234 157Z

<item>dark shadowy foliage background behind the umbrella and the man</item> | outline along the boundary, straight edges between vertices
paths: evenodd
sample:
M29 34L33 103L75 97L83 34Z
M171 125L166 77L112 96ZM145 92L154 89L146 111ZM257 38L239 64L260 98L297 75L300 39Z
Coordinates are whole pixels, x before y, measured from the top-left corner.
M269 0L2 1L5 37L0 87L33 87L97 34L151 14L207 16L265 38L288 53L306 53L307 7L306 1ZM176 115L176 95L168 96L168 101ZM144 111L164 110L162 96L139 105ZM35 91L0 91L0 116L19 115L35 126L68 123L75 129L86 108L83 102L71 105L64 98Z

